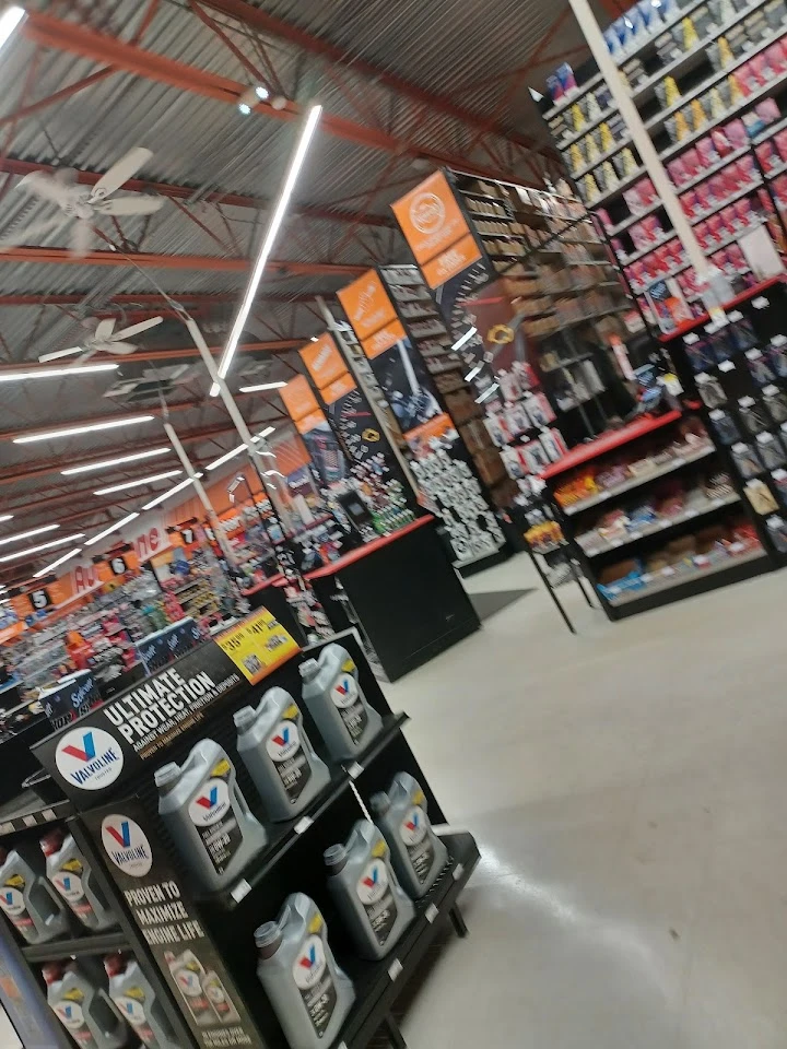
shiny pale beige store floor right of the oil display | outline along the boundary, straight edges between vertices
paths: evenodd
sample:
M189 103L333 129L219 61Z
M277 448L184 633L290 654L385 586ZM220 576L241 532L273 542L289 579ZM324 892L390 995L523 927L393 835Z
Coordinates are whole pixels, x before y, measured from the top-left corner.
M787 574L615 626L561 593L578 637L530 594L386 687L483 854L409 1044L784 1049Z

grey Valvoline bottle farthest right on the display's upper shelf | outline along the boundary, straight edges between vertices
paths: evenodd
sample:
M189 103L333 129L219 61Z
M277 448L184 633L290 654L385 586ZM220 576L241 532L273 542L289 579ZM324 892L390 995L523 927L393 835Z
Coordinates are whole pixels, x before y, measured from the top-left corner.
M357 667L341 645L326 645L319 659L301 663L303 700L337 761L353 758L383 727L357 683Z

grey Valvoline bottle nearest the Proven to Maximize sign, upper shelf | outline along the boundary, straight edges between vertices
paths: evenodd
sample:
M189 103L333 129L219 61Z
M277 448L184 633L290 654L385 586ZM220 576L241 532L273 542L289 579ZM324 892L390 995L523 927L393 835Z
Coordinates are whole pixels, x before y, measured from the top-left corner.
M213 740L200 740L183 765L156 770L158 813L184 862L207 889L230 885L267 837L237 786L235 768Z

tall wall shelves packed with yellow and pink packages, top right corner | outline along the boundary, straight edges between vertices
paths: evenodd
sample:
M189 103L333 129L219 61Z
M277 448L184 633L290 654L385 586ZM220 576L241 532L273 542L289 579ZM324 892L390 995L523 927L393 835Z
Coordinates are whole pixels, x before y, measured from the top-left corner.
M665 0L604 35L701 247L729 279L753 283L739 238L765 225L787 246L787 4ZM700 314L694 269L595 62L576 78L561 67L550 87L563 94L542 115L641 307L650 285L674 278Z

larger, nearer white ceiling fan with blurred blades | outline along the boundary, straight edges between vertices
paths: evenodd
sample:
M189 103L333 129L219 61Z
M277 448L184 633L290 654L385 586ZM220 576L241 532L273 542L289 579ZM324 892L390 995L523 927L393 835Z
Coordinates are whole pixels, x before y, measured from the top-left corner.
M164 203L163 197L133 196L113 197L124 182L137 174L142 165L153 156L150 150L137 146L121 157L103 175L95 186L82 186L77 181L78 173L71 168L60 168L54 175L46 172L33 172L19 184L20 189L34 193L44 200L52 201L60 214L52 219L34 222L24 229L0 239L0 251L30 244L32 239L50 229L66 227L75 220L71 229L71 254L84 256L93 243L91 223L99 215L151 215ZM109 198L109 199L108 199Z

